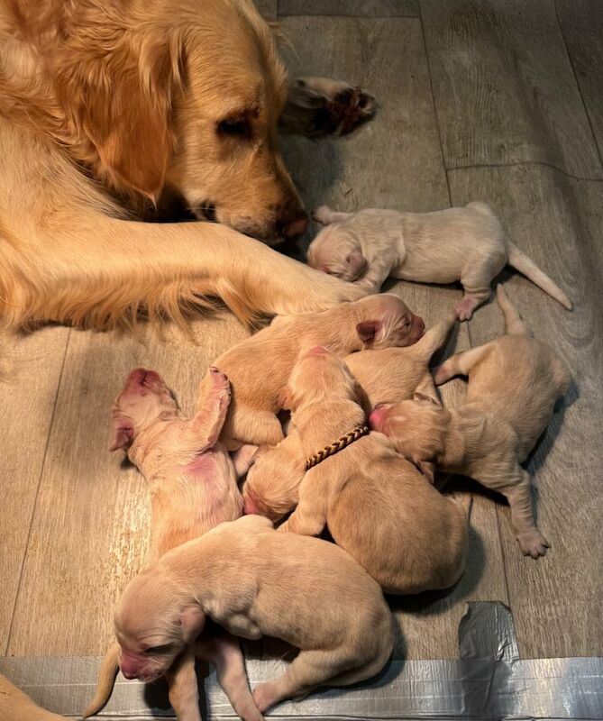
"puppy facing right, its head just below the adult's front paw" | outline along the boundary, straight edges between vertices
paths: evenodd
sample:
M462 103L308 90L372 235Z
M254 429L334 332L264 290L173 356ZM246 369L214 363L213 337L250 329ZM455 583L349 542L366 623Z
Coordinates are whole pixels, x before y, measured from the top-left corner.
M323 313L277 318L215 361L233 388L221 440L229 450L241 443L276 445L282 441L279 396L300 352L317 343L338 355L406 346L418 341L424 330L423 320L391 294L344 303Z

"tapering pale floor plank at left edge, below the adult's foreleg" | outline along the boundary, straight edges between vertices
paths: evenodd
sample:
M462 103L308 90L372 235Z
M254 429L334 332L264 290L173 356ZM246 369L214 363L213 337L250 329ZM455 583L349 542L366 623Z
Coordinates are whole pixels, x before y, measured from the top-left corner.
M32 335L2 337L0 654L8 646L68 336L66 328L48 327Z

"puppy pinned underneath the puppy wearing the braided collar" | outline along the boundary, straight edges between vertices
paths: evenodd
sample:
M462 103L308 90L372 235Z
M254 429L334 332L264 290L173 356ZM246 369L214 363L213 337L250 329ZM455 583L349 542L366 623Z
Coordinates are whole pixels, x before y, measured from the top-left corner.
M428 363L443 345L452 324L450 318L434 325L420 341L406 348L382 348L346 356L345 363L358 382L362 406L367 413L381 403L411 398L416 390L439 402ZM290 429L287 438L278 445L261 448L253 458L242 488L245 513L268 516L274 522L286 516L297 505L305 462L295 430ZM428 477L431 474L433 481L431 465L425 462L421 470Z

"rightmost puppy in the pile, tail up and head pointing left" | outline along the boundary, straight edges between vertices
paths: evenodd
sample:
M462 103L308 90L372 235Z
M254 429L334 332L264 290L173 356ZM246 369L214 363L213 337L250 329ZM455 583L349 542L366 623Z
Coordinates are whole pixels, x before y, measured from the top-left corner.
M435 461L502 493L521 550L538 558L549 543L534 523L530 477L520 463L567 391L570 372L548 345L531 337L501 286L497 292L507 335L453 355L434 371L438 384L469 376L464 405L448 411L422 397L378 408L370 424L407 458Z

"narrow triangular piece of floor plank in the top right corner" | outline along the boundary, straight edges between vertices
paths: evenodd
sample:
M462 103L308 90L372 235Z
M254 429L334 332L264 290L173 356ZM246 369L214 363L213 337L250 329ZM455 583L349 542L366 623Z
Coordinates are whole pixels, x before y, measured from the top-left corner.
M600 157L603 155L603 5L598 0L557 0L557 14Z

